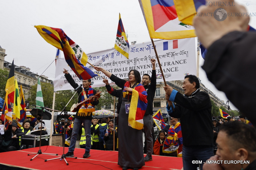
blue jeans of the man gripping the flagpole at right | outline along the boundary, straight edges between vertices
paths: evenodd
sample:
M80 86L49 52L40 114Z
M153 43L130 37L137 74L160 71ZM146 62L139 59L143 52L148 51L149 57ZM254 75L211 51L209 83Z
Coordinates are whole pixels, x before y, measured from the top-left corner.
M184 146L182 147L183 170L196 170L198 164L193 164L193 160L202 160L200 169L203 169L204 162L213 156L212 146Z

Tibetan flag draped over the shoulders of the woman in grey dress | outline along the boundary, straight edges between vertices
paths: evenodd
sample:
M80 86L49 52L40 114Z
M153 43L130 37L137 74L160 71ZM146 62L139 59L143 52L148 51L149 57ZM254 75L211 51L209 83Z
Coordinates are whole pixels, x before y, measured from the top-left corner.
M124 84L125 87L130 87L130 82L127 81ZM123 90L124 97L126 95L131 95L131 93ZM138 83L134 89L132 89L132 99L130 104L130 109L128 109L128 104L125 105L125 109L129 110L128 125L134 129L143 129L143 116L146 112L148 100L147 92L142 84Z

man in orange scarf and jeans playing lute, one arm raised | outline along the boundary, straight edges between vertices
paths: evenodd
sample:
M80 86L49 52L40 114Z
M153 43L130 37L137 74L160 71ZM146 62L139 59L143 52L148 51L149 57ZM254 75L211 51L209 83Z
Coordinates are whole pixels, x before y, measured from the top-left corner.
M73 80L72 76L68 73L66 69L64 69L63 73L69 84L76 89L79 85ZM92 96L97 93L96 90L91 87L91 79L83 80L83 88L80 87L77 90L78 93L78 103L88 99L87 102L79 106L79 110L76 112L76 118L73 126L72 136L70 139L70 145L68 148L68 152L65 154L65 157L73 157L74 150L76 145L76 138L82 123L84 123L84 130L86 136L86 146L85 153L83 158L90 157L90 149L91 149L91 125L92 125L92 112L94 106L99 103L98 99L93 98Z

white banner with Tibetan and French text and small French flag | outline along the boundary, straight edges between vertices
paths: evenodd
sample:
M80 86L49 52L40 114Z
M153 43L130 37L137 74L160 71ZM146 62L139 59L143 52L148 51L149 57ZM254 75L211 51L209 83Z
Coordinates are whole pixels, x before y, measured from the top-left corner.
M158 40L155 41L156 50L164 72L166 81L183 80L185 75L196 75L196 52L195 38L176 39L176 40ZM151 58L156 58L156 54L151 42L130 45L129 59L123 56L116 49L108 49L95 53L88 53L88 62L94 66L102 67L117 77L123 79L128 77L130 70L135 69L140 75L152 73ZM108 79L105 74L97 72L89 64L86 65L100 76L92 78L92 87L105 86L102 77ZM65 59L58 59L56 63L56 72L54 91L73 89L67 82L63 74L63 68L67 69L77 84L82 84L76 74L73 73ZM156 63L157 82L163 81L158 63ZM108 79L110 85L114 83Z

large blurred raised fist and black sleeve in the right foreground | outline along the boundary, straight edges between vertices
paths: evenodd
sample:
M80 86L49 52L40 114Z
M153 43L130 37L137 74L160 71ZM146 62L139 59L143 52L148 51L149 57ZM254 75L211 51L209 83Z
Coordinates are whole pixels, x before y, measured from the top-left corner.
M215 2L218 4L218 0ZM245 7L234 0L227 0L228 3L233 5L225 6L226 11L248 14ZM216 9L217 6L207 5L200 7L198 12L211 13ZM256 127L256 114L252 113L256 101L256 81L253 78L256 32L248 31L249 20L249 15L227 17L221 22L214 17L195 17L194 26L196 35L208 50L202 66L207 78Z

